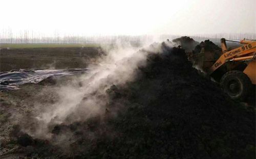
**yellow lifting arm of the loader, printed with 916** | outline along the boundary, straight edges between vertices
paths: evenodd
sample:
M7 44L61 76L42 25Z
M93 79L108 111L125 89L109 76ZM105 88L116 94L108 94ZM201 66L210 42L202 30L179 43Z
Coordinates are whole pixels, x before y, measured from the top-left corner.
M240 41L241 44L245 44L241 47L232 49L230 51L227 51L226 48L226 42L225 39L221 40L221 46L222 46L222 51L223 54L221 55L221 57L215 62L214 65L212 65L208 70L207 73L211 74L212 72L214 72L216 69L218 69L219 67L221 67L222 65L224 65L227 61L232 61L235 59L233 59L234 57L241 57L243 55L246 54L252 54L252 56L249 56L247 59L241 59L241 60L249 60L252 59L255 52L256 52L256 41L246 41L246 40L241 40ZM254 53L254 54L253 54ZM236 60L238 60L239 58L236 58Z

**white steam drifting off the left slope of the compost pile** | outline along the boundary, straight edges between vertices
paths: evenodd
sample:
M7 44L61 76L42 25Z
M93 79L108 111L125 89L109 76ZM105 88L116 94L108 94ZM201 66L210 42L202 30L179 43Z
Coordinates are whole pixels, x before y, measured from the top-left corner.
M45 109L40 108L42 112L36 117L36 130L25 130L26 133L35 138L49 139L49 125L86 121L90 117L103 114L109 101L106 90L112 85L124 85L133 81L138 74L138 67L146 64L148 51L140 50L142 47L121 43L112 48L102 47L107 53L107 56L98 60L102 67L73 80L80 82L80 85L61 86L57 92L58 101L47 105ZM162 52L161 44L147 47L146 50Z

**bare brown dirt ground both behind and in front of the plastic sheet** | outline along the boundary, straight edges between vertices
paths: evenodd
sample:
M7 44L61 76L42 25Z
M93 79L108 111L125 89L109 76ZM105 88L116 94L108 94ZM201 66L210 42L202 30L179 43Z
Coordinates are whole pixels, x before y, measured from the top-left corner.
M20 68L86 68L95 64L96 59L103 54L98 47L63 47L63 48L24 48L1 49L1 72ZM96 65L96 64L95 64ZM51 81L39 84L19 86L19 90L0 92L0 156L1 158L23 158L22 147L12 144L9 136L13 125L18 121L28 122L34 112L35 103L54 103L56 90L60 84L70 82L72 77L57 79L57 84ZM56 80L56 79L55 79ZM36 93L35 93L36 92ZM42 98L44 96L44 98ZM15 115L15 119L13 116ZM24 116L27 117L24 120ZM19 152L17 154L17 152ZM24 154L24 156L22 155Z

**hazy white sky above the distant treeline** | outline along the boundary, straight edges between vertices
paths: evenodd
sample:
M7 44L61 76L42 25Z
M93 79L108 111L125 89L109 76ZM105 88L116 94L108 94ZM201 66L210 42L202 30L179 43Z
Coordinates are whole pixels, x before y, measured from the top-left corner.
M0 29L74 34L256 33L256 0L0 0Z

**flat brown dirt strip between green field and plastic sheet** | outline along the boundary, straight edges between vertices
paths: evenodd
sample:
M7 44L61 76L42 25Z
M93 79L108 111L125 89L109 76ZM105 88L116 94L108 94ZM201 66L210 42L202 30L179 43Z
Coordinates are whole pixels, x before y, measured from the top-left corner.
M0 71L20 68L86 68L102 54L99 47L1 49Z

